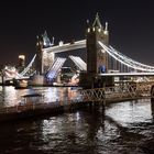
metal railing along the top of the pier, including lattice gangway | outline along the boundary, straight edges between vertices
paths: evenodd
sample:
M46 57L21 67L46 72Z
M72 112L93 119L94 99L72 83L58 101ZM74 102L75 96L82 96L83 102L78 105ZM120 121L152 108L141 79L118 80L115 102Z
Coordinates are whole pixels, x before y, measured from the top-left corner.
M0 108L0 114L23 112L37 109L56 109L69 107L86 101L118 101L125 99L151 98L152 82L116 84L113 87L79 89L77 99L45 102L43 95L23 96L22 101L14 107Z

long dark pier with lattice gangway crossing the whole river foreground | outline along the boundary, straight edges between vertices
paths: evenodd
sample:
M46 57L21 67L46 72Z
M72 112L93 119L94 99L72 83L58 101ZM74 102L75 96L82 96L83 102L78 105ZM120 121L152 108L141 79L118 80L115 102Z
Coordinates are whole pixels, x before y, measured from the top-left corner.
M23 101L18 106L0 108L0 122L68 112L74 109L86 108L91 102L94 105L100 102L106 106L107 103L117 101L151 98L152 85L153 82L127 82L117 84L113 87L80 89L77 91L77 99L69 100L66 98L66 100L54 102L44 102L42 95L28 95L23 97Z

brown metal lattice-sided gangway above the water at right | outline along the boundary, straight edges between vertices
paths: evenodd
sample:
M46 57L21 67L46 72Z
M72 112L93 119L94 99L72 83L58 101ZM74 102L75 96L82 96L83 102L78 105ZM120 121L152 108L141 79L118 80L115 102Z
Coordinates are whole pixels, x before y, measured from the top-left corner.
M112 87L82 89L82 101L124 100L151 97L152 82L116 84Z

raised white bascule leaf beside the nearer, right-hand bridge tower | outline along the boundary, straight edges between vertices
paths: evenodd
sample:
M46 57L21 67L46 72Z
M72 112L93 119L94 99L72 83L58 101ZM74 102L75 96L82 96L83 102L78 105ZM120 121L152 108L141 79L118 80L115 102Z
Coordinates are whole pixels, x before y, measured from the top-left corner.
M80 70L87 70L87 64L80 57L70 55L69 58Z

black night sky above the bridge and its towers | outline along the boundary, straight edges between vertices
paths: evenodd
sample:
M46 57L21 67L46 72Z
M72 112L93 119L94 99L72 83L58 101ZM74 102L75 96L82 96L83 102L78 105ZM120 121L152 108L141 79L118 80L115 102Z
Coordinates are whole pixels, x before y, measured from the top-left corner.
M154 4L152 0L0 1L0 64L29 62L36 53L36 35L47 31L55 44L85 38L86 21L109 22L110 44L123 54L154 65Z

